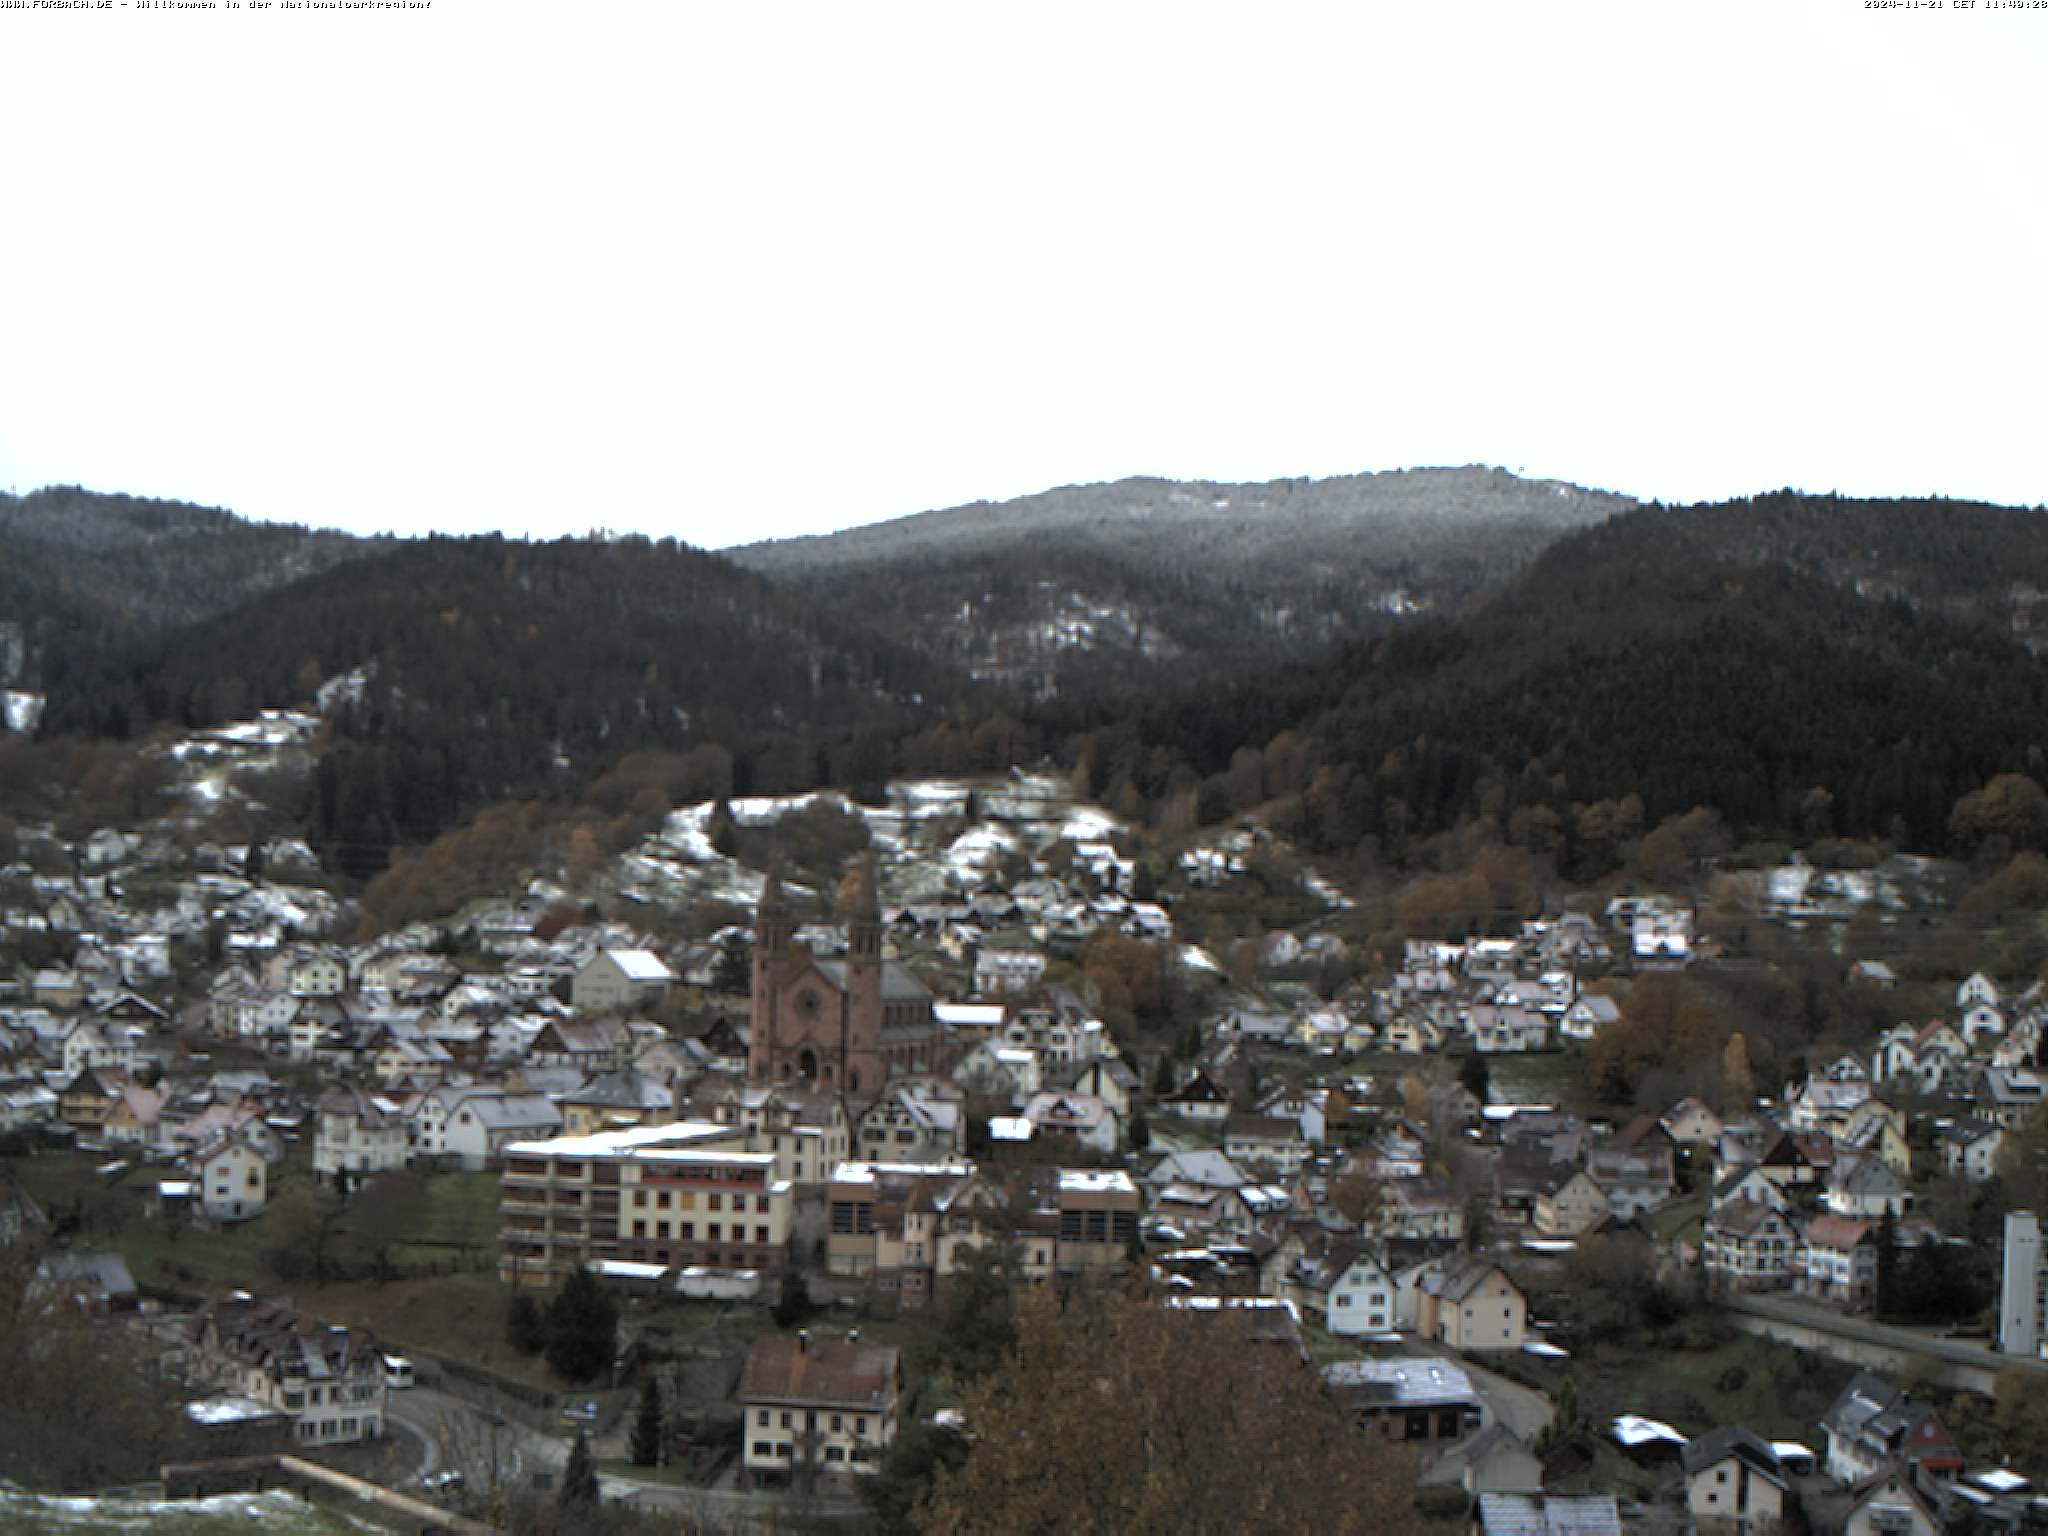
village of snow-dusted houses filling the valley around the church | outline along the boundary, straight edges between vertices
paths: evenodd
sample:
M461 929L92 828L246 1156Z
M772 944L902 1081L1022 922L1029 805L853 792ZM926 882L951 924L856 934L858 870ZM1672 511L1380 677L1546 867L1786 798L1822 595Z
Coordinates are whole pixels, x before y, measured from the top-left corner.
M2040 1520L2032 1483L1966 1464L1898 1372L1858 1374L1800 1444L1618 1415L1602 1432L1649 1468L1626 1489L1548 1487L1550 1405L1516 1380L1571 1356L1530 1276L1593 1235L1634 1237L1645 1266L1708 1296L1868 1313L1880 1223L1944 1243L1915 1182L1989 1180L2036 1110L2042 987L1972 975L1942 1018L1751 1108L1681 1098L1599 1122L1513 1102L1507 1067L1569 1063L1616 1022L1583 979L1700 963L1683 901L1409 942L1325 999L1233 985L1176 940L1167 893L1229 883L1231 850L1184 854L1149 901L1110 838L1069 852L1061 872L983 868L911 899L868 860L836 913L752 872L752 922L688 944L647 938L618 915L631 903L563 922L565 893L537 885L463 913L451 952L432 926L322 938L340 911L291 846L254 877L246 850L199 850L174 903L129 907L145 850L106 834L4 913L61 936L68 961L0 995L16 1149L0 1239L43 1243L51 1282L119 1327L176 1311L176 1286L61 1235L31 1194L39 1159L117 1169L137 1221L199 1229L186 1243L260 1221L283 1180L346 1194L403 1167L492 1171L508 1290L586 1268L635 1307L766 1309L795 1268L813 1296L887 1317L938 1307L969 1253L1006 1245L1028 1280L1137 1272L1163 1305L1257 1311L1360 1434L1419 1448L1425 1481L1466 1495L1470 1530L1759 1532L1815 1485L1855 1536ZM1212 999L1198 1051L1163 1073L1118 1051L1085 989L1049 981L1104 928L1169 946ZM1327 922L1274 932L1262 975L1335 944ZM1862 979L1890 985L1874 963ZM1460 1083L1475 1055L1497 1063L1485 1102ZM1950 1108L1929 1135L1905 1098ZM1657 1221L1683 1202L1688 1221ZM2021 1360L2040 1356L2042 1249L2015 1223L1993 1346ZM215 1386L193 1405L203 1423L264 1417L297 1448L391 1427L403 1386L362 1327L227 1288L190 1307L188 1339ZM731 1477L776 1487L809 1460L856 1479L913 1389L903 1352L854 1329L762 1331Z

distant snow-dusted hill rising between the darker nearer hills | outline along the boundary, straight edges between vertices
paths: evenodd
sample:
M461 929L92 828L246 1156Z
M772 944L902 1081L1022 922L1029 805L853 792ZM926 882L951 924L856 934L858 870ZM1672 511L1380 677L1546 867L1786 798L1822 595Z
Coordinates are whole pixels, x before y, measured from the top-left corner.
M975 678L1067 694L1307 657L1456 612L1628 498L1501 469L1122 479L729 555Z

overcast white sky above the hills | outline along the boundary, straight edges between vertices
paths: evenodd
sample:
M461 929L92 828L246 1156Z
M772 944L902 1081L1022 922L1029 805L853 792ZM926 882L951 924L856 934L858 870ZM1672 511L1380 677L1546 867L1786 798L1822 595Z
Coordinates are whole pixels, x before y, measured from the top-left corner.
M2048 10L1954 4L0 10L0 487L2048 502Z

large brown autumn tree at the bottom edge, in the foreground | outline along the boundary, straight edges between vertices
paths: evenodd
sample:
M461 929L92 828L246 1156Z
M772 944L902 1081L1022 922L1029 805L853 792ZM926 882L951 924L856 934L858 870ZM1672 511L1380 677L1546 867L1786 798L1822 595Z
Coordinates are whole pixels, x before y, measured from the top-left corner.
M973 1448L920 1509L979 1532L1417 1532L1413 1468L1241 1313L1051 1286L963 1405Z

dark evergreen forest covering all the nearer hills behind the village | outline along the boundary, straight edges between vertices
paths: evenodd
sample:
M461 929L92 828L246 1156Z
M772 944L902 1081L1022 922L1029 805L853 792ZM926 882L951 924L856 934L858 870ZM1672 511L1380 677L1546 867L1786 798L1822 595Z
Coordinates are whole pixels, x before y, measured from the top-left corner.
M629 758L643 766L614 782L649 807L692 786L870 795L889 774L1051 762L1169 834L1260 807L1315 852L1401 864L1491 823L1573 874L1694 807L1753 840L1942 850L1962 795L2048 776L2048 518L2013 508L1642 508L1565 535L1458 614L1313 659L1243 639L1237 672L1190 666L1165 688L1133 682L1112 645L1087 686L1026 702L969 682L926 633L915 561L831 596L674 541L365 545L80 496L0 506L29 530L0 565L0 621L31 637L43 735L207 727L350 678L301 807L348 874L494 803L575 799ZM985 610L1024 612L1065 555L918 559L940 584L967 561ZM1167 614L1227 645L1272 629L1186 563L1102 569L1159 633ZM659 762L711 748L711 780Z

